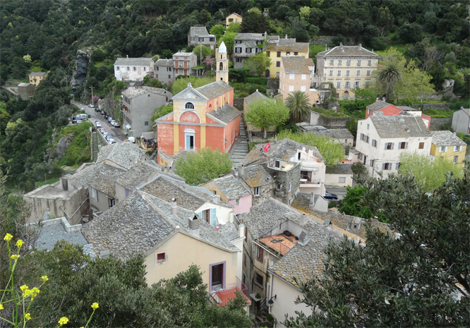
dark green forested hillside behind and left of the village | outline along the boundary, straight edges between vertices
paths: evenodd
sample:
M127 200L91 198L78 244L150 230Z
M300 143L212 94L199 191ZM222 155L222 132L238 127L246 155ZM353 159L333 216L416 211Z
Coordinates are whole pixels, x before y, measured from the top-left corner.
M269 15L263 11L268 9ZM171 58L187 45L191 26L215 31L229 13L243 16L240 32L267 32L311 42L310 56L327 46L361 43L394 47L430 75L436 92L447 78L454 95L469 99L468 2L459 0L3 0L0 5L0 83L28 82L48 72L28 101L0 92L0 171L8 186L32 190L35 182L60 176L61 167L86 162L83 154L54 158L56 143L73 113L71 99L119 97L118 57ZM215 28L216 27L216 28ZM223 33L223 31L222 31ZM223 37L218 35L218 37ZM78 54L87 63L78 65ZM79 66L79 67L78 67ZM81 70L85 78L73 79ZM374 97L375 99L375 97ZM83 132L83 131L82 131ZM66 134L79 135L71 127ZM78 149L80 138L73 138Z

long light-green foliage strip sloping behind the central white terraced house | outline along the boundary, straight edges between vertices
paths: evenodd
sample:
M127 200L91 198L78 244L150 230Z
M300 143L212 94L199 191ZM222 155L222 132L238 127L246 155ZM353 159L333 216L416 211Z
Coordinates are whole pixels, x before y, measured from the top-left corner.
M332 167L337 166L344 159L343 145L339 142L325 137L325 135L315 135L315 133L291 132L283 130L277 134L277 139L289 138L296 142L301 142L318 148L320 154L325 159L325 165Z

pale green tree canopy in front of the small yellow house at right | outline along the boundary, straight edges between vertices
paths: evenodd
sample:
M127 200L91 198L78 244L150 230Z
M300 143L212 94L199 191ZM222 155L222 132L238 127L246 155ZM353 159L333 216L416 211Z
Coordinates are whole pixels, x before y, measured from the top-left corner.
M444 157L433 160L428 155L417 152L404 152L400 155L399 174L413 175L423 190L432 191L441 186L448 172L456 177L463 176L462 167Z

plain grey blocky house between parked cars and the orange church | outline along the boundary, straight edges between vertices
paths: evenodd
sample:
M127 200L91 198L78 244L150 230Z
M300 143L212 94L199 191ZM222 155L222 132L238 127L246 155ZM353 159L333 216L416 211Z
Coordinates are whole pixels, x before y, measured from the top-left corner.
M128 87L123 96L123 128L130 137L140 137L143 132L152 130L152 117L155 109L168 104L171 92L158 87Z

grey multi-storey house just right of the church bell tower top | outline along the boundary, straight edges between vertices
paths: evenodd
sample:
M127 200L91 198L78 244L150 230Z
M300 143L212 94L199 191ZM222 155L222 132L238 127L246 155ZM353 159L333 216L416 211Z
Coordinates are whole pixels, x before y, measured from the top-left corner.
M234 40L234 68L243 68L245 59L263 51L266 40L267 33L237 34Z

